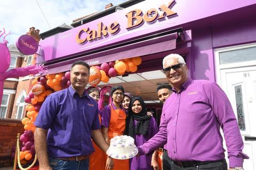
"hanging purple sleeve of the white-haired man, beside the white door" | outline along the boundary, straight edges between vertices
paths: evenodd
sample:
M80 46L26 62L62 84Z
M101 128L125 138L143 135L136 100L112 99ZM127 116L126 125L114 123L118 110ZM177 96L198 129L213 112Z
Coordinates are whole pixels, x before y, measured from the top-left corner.
M205 91L209 92L207 98L223 130L228 149L229 167L242 167L243 159L249 159L249 157L242 152L244 147L242 136L228 97L213 82L205 85Z

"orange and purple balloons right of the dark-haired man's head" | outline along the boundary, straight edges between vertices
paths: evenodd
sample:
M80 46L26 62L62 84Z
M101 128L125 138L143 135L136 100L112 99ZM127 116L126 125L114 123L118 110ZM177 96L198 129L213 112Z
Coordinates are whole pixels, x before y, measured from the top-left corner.
M125 72L136 72L141 64L141 57L116 60L115 62L102 63L100 66L93 66L90 69L89 84L97 86L100 81L108 83L109 78L117 75L124 75ZM100 72L100 74L99 74Z

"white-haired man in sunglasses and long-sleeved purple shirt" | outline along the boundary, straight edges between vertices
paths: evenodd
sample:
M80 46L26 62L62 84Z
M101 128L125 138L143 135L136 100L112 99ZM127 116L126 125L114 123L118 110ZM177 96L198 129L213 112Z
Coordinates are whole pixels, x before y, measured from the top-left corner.
M243 169L243 140L226 94L209 80L188 78L182 56L167 55L163 71L173 93L163 107L159 132L138 147L139 154L167 142L171 169L227 169L220 127L225 136L230 169Z

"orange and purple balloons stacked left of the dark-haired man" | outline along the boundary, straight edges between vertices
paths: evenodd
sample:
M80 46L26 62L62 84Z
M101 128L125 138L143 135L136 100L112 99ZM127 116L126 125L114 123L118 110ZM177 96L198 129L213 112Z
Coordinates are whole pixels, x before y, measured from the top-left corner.
M70 85L70 71L61 72L59 74L46 75L35 78L33 85L25 102L28 103L27 117L21 120L24 125L25 132L20 136L22 146L20 147L20 160L21 164L27 164L28 161L33 161L35 156L34 147L34 122L41 108L42 103L53 92L60 91Z

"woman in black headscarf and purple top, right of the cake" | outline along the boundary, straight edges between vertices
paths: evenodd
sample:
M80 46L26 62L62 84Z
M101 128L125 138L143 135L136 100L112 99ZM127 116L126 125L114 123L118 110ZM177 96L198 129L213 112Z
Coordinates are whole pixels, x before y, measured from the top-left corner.
M139 146L147 142L158 132L156 120L153 116L147 115L145 102L139 96L131 99L128 109L128 117L126 119L125 134L133 137L135 145ZM148 170L151 167L151 157L149 155L141 155L130 159L131 170Z

